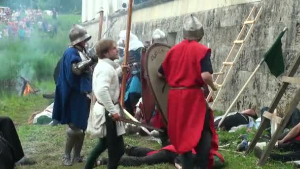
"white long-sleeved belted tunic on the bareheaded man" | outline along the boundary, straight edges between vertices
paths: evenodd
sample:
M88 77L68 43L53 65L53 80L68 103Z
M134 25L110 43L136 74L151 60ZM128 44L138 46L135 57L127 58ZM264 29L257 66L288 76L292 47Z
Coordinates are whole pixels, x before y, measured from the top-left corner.
M87 125L87 133L91 134L92 137L103 138L106 136L105 109L111 114L120 112L118 105L113 103L116 103L119 98L120 84L118 76L121 73L121 67L110 59L99 59L94 69L93 91L97 102L90 112ZM122 122L116 122L116 129L118 136L125 133Z

